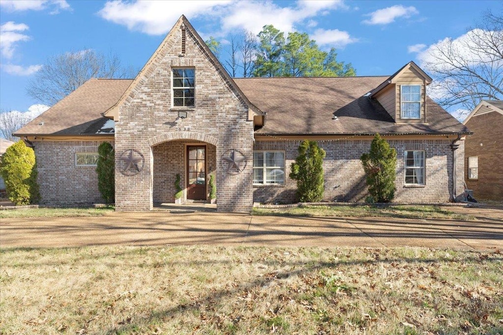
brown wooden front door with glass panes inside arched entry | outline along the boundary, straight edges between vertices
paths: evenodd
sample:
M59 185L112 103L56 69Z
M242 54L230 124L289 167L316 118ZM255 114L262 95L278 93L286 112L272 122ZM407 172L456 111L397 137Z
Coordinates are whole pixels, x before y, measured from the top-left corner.
M187 199L206 200L205 146L187 146Z

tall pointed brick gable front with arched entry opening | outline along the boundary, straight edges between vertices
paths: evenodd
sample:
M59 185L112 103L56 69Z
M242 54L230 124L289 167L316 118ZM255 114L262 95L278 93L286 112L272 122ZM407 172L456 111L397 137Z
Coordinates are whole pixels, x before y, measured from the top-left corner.
M152 208L155 169L152 148L181 139L215 145L216 157L229 149L240 150L248 164L239 174L227 174L220 159L217 160L217 207L219 211L249 211L253 206L254 126L253 121L248 121L248 107L203 53L189 29L186 34L185 55L181 56L181 30L175 29L119 106L115 127L116 210ZM186 119L178 119L178 109L171 102L174 67L195 68L195 108L189 108ZM143 170L134 176L121 173L120 156L129 149L138 150L145 158Z

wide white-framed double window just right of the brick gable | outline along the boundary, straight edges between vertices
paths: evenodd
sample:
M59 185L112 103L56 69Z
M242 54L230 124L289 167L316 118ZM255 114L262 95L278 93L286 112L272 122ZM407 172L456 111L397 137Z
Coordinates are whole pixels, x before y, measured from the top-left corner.
M254 184L285 183L285 153L283 151L254 151L253 172Z

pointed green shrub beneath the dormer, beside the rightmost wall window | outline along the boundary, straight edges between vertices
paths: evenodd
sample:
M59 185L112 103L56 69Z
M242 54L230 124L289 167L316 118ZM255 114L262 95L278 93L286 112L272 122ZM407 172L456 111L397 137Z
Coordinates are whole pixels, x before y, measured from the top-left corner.
M395 195L396 150L376 134L370 152L360 158L367 175L367 185L372 200L389 202Z

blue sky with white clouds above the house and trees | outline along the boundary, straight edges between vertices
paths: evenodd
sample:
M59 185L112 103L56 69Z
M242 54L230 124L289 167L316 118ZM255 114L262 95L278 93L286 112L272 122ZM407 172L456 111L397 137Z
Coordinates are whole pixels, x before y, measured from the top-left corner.
M338 49L358 75L389 75L445 38L459 38L501 1L3 1L0 0L0 108L37 103L25 87L52 55L84 49L116 53L140 69L180 15L203 38L265 24L308 33ZM420 64L421 65L421 64Z

